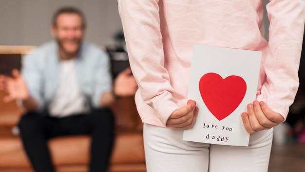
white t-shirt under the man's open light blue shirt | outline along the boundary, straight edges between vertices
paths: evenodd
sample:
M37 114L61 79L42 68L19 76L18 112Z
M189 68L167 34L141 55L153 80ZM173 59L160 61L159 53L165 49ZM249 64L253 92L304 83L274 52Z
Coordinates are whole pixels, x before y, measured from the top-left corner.
M61 61L60 65L60 83L49 106L50 116L65 117L88 112L88 103L78 87L75 60Z

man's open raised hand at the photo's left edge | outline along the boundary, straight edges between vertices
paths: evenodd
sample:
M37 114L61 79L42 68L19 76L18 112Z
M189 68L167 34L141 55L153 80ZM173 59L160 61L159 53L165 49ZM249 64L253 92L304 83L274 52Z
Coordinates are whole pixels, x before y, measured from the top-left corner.
M0 90L8 93L3 97L3 102L12 100L26 100L29 98L27 86L17 69L12 71L13 78L0 75Z

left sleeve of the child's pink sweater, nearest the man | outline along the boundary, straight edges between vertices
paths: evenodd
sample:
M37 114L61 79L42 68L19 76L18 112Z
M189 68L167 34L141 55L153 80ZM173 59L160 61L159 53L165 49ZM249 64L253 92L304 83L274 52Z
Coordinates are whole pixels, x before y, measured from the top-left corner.
M118 0L130 65L145 104L166 122L179 108L164 67L158 0Z

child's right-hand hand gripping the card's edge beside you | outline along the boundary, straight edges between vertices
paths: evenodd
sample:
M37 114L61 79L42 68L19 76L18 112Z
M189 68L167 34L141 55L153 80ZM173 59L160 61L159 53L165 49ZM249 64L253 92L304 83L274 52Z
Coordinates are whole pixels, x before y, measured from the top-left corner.
M265 102L254 101L247 106L248 113L242 113L245 129L252 134L263 129L271 129L285 119L279 113L272 111Z

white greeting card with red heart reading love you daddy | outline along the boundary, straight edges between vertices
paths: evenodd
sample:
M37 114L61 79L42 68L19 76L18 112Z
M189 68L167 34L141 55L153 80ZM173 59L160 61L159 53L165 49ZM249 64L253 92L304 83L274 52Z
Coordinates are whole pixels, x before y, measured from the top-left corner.
M256 97L261 51L195 44L188 99L199 108L183 140L248 146L241 114Z

